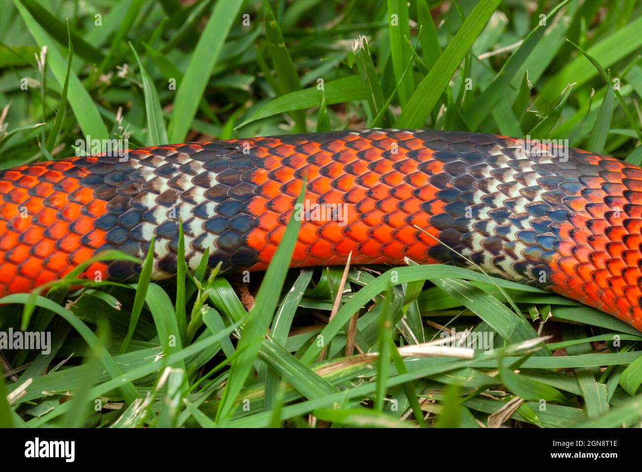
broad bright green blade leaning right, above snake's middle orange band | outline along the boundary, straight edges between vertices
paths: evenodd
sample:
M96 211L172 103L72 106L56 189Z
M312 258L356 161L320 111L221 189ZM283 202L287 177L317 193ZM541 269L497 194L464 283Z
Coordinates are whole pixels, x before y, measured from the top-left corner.
M446 90L453 74L464 59L474 41L482 32L499 0L482 0L466 18L455 37L449 42L435 66L413 93L408 104L397 119L397 128L422 128L433 107Z

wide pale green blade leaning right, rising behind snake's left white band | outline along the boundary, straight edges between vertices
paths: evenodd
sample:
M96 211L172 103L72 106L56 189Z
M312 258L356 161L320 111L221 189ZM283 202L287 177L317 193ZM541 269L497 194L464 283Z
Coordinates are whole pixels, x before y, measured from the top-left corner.
M214 4L209 21L201 33L183 81L177 90L168 127L168 139L171 143L180 143L185 139L209 76L223 48L223 42L242 4L243 2L238 0L219 0Z

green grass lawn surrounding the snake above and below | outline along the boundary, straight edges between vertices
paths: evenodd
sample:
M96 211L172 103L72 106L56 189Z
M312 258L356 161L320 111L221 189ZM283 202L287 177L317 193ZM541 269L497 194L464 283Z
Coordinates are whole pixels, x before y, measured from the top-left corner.
M369 123L642 161L635 1L0 8L0 168L73 155L83 135L144 146ZM71 277L0 300L0 331L52 333L49 354L0 352L0 426L639 424L642 334L629 325L462 268L287 270L297 231L292 220L249 280L186 274L181 259L176 281L150 281L148 259L137 283ZM492 351L424 344L452 329Z

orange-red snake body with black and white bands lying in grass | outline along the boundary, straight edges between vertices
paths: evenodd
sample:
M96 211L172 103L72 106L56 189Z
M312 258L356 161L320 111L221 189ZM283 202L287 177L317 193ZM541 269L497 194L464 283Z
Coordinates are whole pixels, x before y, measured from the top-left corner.
M304 188L305 186L305 188ZM304 202L297 198L304 193ZM0 171L0 295L80 277L447 263L531 284L642 331L642 169L555 140L367 129L166 144ZM297 205L299 205L297 207ZM100 259L100 258L99 258Z

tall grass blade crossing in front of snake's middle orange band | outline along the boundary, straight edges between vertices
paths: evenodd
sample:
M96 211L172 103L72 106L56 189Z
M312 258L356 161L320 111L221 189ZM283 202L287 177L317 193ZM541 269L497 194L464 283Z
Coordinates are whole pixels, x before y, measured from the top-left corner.
M307 177L302 182L301 193L295 208L302 205L306 185ZM232 362L230 367L229 378L225 385L225 390L223 390L220 406L216 412L217 423L227 421L234 412L236 397L243 388L247 375L252 369L252 364L259 353L263 337L265 337L270 322L272 322L281 288L290 266L294 246L299 237L301 226L301 215L299 213L297 210L291 212L283 239L279 243L265 273L266 283L261 284L261 288L259 288L259 292L256 295L254 308L250 313L250 319L245 328L243 328L243 335L236 347L237 350L243 350L243 352Z

